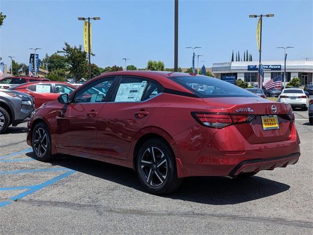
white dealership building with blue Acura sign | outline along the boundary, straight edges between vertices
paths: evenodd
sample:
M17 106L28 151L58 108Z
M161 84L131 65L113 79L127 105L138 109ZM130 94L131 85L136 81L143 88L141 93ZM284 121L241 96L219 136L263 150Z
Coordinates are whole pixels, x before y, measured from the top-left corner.
M262 61L264 68L263 81L266 82L284 72L284 60ZM212 72L216 78L234 83L235 79L242 79L250 85L257 83L259 61L234 61L213 63ZM300 78L301 85L313 84L312 60L287 60L286 84L291 78ZM284 76L282 76L284 81ZM283 82L284 84L284 82Z

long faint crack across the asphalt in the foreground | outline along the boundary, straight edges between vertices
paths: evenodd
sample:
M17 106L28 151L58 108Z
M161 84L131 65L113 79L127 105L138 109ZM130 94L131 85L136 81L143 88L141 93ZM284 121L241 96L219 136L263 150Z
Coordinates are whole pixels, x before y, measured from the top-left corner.
M91 205L91 204L79 204L69 203L60 201L43 201L43 200L19 200L20 203L27 203L30 205L38 206L57 206L61 208L68 208L73 210L87 210L95 211L98 215L104 213L115 213L123 215L151 215L151 216L179 216L179 217L199 217L205 219L226 219L226 220L243 220L251 222L261 223L273 223L293 227L313 228L313 222L306 220L287 220L284 218L275 217L262 217L262 216L240 216L240 215L229 215L229 214L214 214L214 213L196 213L194 211L185 212L171 212L171 211L145 211L136 209L122 209L112 208L104 205Z

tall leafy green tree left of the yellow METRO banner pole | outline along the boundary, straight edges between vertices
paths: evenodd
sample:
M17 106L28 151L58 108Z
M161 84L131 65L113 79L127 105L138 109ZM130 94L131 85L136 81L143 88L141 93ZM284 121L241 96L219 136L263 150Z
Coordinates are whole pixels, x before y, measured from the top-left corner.
M62 51L58 51L57 53L64 54L65 61L69 65L70 75L76 81L88 77L87 52L83 50L82 45L71 47L65 42L65 47L62 48Z

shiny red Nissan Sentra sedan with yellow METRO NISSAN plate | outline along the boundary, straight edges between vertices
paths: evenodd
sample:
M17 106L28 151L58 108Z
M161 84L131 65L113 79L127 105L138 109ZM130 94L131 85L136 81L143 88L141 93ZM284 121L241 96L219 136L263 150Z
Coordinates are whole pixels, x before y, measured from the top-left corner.
M187 176L252 176L295 164L299 137L289 104L217 78L121 71L91 79L32 113L27 143L55 154L133 168L154 194Z

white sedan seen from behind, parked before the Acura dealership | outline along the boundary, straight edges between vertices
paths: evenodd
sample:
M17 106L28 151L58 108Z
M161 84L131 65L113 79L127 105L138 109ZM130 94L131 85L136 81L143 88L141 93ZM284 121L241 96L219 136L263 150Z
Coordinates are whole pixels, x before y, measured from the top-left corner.
M278 97L278 102L290 104L292 108L308 110L308 97L300 88L286 88Z

